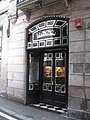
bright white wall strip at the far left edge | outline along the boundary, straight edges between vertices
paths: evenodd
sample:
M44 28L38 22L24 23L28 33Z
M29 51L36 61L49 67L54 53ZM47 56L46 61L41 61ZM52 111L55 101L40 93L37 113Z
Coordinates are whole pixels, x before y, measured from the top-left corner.
M8 38L6 29L8 27L7 14L0 16L0 28L2 28L2 48L1 53L1 73L0 73L0 96L6 95L7 87L7 54L8 54Z

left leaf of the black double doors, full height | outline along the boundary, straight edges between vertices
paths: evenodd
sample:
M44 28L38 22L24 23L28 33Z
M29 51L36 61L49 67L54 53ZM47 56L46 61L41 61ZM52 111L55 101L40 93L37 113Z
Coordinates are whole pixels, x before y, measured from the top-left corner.
M44 53L43 56L42 99L45 103L53 102L53 57L53 53Z

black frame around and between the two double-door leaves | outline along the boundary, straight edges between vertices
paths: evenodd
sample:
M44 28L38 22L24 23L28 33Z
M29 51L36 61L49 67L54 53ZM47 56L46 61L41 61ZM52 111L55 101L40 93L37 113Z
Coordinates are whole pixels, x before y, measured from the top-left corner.
M52 105L59 105L60 107L65 107L65 108L67 108L67 106L68 106L68 68L69 68L69 64L68 64L68 60L69 60L69 58L68 58L68 54L69 54L69 51L68 51L68 48L65 48L65 49L53 49L53 50L45 50L42 54L44 54L44 53L53 53L54 55L55 55L55 53L56 52L65 52L66 53L66 84L65 84L65 86L66 86L66 93L65 93L65 105L59 105L59 104L56 104L56 103L54 103L54 99L55 98L53 98L53 100L50 100L50 101L45 101L45 100L43 100L43 90L42 90L42 84L43 84L43 81L40 79L40 102L44 102L44 103L48 103L48 104L52 104ZM41 61L43 61L43 55L42 55L42 59L41 59ZM55 70L55 56L54 56L54 60L53 60L53 62L54 62L54 68L53 68L53 70ZM40 78L42 78L43 77L43 62L41 62L41 65L40 66L42 66L41 67L41 71L40 71ZM55 71L54 71L54 74L55 74ZM55 75L54 75L54 77L55 77ZM54 82L54 89L55 89L55 82ZM55 91L53 90L53 97L55 97Z

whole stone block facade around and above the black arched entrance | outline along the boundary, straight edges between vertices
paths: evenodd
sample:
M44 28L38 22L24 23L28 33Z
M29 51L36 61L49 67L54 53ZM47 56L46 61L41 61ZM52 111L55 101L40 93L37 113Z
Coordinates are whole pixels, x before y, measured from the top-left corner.
M29 21L27 21L25 14L21 11L18 11L17 21L16 15L12 15L16 23L14 22L12 24L13 18L10 17L10 38L4 35L3 46L6 45L6 47L2 49L2 66L4 67L2 67L1 81L4 81L4 90L7 91L8 97L25 101L25 28L40 17L55 14L70 18L68 115L78 119L89 120L90 28L88 28L88 25L90 24L90 0L70 0L68 8L61 2L35 10L31 12ZM77 29L74 26L74 20L78 17L81 17L83 21L83 27L81 29ZM4 28L7 26L7 18L5 20L3 22ZM6 33L5 31L6 28L4 29L4 33Z

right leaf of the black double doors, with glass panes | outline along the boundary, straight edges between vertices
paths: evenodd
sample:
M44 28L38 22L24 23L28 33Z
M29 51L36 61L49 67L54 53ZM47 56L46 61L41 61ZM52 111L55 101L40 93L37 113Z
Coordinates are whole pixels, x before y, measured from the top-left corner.
M54 103L66 107L67 103L67 64L66 53L55 53Z

